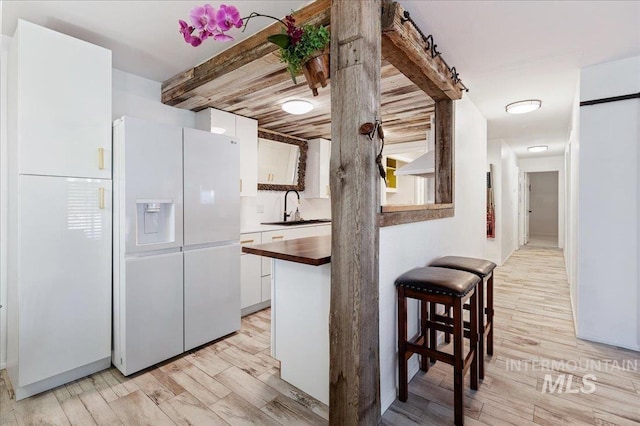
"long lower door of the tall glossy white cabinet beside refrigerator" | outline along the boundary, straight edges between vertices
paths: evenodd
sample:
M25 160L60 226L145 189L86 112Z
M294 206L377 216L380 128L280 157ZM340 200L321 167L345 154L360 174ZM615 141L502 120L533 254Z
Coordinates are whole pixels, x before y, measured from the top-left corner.
M17 386L111 355L111 181L19 178Z

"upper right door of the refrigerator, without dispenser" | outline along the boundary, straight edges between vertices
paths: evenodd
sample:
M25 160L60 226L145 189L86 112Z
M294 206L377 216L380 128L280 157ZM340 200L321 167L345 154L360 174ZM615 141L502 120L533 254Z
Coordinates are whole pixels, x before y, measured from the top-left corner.
M184 129L184 245L240 238L240 145Z

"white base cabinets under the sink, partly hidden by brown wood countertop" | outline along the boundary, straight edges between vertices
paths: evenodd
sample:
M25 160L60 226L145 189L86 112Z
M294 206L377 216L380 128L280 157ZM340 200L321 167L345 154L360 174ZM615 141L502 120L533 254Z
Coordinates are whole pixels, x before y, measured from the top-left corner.
M331 234L331 224L297 226L276 231L241 234L245 245L277 243L304 237ZM242 254L240 257L240 287L242 315L259 311L271 305L271 258Z

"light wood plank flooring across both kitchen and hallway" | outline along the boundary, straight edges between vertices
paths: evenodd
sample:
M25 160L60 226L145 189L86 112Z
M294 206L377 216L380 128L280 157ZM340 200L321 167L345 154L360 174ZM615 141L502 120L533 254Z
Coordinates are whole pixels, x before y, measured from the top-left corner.
M495 311L494 356L478 391L469 390L467 375L466 424L640 425L640 354L575 337L560 250L525 247L496 269ZM111 368L19 402L2 371L0 425L327 424L326 405L279 378L269 356L270 315L245 317L235 335L133 376ZM634 360L636 371L612 367ZM569 393L566 382L562 393L543 392L546 375L555 382L572 374L578 390L590 373L593 393ZM419 372L409 392L382 424L453 424L449 365Z

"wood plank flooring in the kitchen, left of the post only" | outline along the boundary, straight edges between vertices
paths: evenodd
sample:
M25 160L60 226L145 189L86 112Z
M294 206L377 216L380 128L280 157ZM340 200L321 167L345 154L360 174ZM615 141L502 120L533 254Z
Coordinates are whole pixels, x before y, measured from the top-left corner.
M271 312L218 342L124 377L114 367L16 402L0 374L0 425L324 425L326 405L280 379Z

